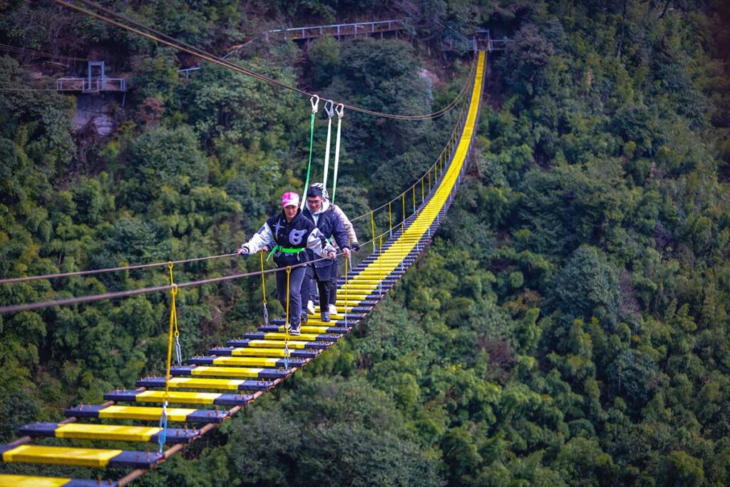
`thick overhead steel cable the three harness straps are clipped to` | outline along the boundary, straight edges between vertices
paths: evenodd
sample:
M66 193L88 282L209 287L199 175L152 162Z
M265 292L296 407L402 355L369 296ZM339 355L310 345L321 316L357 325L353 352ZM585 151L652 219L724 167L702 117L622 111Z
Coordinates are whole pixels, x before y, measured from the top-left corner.
M83 13L85 15L89 15L89 16L91 16L93 18L96 18L98 20L101 20L103 22L110 23L110 24L112 24L114 26L118 26L119 28L123 28L123 29L125 29L127 31L134 32L135 34L139 34L142 37L146 37L147 39L153 40L155 42L160 42L161 44L167 45L169 47L173 47L173 48L175 48L177 50L181 50L181 51L183 51L185 53L188 53L188 54L191 54L191 55L195 55L195 56L197 56L199 58L202 58L202 59L204 59L206 61L210 61L212 63L219 64L220 66L228 67L229 69L234 69L237 72L241 72L242 74L247 74L247 76L250 76L250 77L255 77L256 79L261 80L261 81L264 81L266 83L270 83L272 85L280 86L281 88L286 88L288 90L295 91L296 93L300 93L301 95L304 95L304 96L307 96L307 97L310 97L310 98L312 96L314 96L314 93L307 93L307 91L301 90L301 89L296 88L294 86L287 85L286 83L282 83L280 81L277 81L277 80L274 80L272 78L266 77L263 74L259 74L257 72L253 72L250 69L246 69L246 68L244 68L242 66L239 66L237 64L233 64L230 61L226 61L226 60L217 58L214 55L212 55L210 53L207 53L206 51L201 50L201 49L199 49L197 47L190 46L190 45L185 45L185 43L180 42L177 39L174 39L173 37L170 37L170 36L166 36L165 35L164 37L166 37L167 39L169 39L169 40L166 40L166 39L163 39L161 36L159 36L157 34L150 34L150 32L152 32L153 29L151 29L151 28L145 26L144 24L139 23L139 22L137 22L135 20L131 20L129 18L126 18L123 15L120 15L120 14L117 14L115 12L112 12L109 9L105 9L104 7L101 7L101 6L95 4L95 3L91 2L91 1L88 1L88 0L79 0L79 1L82 1L84 4L87 4L89 6L93 6L93 8L95 8L95 9L99 9L99 10L101 10L103 12L108 12L110 15L113 15L116 18L123 19L123 20L125 20L128 23L131 23L133 25L136 25L139 28L144 28L145 30L150 31L150 32L141 31L141 30L139 30L139 28L134 28L132 26L128 26L128 25L126 25L124 23L119 22L118 20L114 20L112 18L108 18L108 17L106 17L104 15L101 15L101 14L99 14L97 12L93 12L93 11L91 11L89 9L85 9L84 7L79 7L78 5L69 3L68 1L64 1L64 0L53 0L53 1L55 3L57 3L57 4L59 4L59 5L62 5L64 7L66 7L66 8L74 9L77 12L81 12L81 13ZM324 98L325 99L328 99L327 97L324 97ZM458 103L459 99L460 99L460 97L457 97L450 104L448 104L447 107L444 107L441 110L438 110L437 112L433 112L433 113L429 113L429 114L423 114L423 115L399 115L399 114L393 114L393 113L377 112L377 111L374 111L374 110L368 110L366 108L356 107L354 105L345 104L345 103L342 103L342 102L339 102L339 103L342 104L345 108L347 108L347 110L353 110L355 112L366 113L366 114L375 115L375 116L378 116L378 117L393 118L393 119L397 119L397 120L429 120L431 118L437 118L437 117L439 117L441 115L445 115L445 113L450 112L450 110L453 110L453 108L456 107L456 104Z

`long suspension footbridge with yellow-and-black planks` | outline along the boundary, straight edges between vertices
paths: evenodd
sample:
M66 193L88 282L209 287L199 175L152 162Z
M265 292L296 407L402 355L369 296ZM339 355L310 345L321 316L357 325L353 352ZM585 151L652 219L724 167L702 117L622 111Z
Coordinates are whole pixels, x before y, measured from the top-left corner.
M389 217L388 231L376 235L374 212L368 214L372 239L364 248L372 248L372 253L351 269L346 261L345 275L337 281L338 312L331 315L331 322L312 316L301 326L301 335L291 337L283 320L266 319L258 331L234 337L204 355L189 358L184 365L170 366L169 349L167 377L142 377L134 387L126 385L130 388L104 394L106 402L76 404L63 411L64 421L26 424L19 429L17 440L0 445L1 459L7 464L131 469L131 472L117 480L3 474L0 487L125 486L199 440L266 391L279 386L366 319L428 248L453 202L477 129L485 80L484 51L477 53L472 73L465 85L466 103L441 156L426 175L387 204L389 214L393 203L401 204L401 221L394 226L392 216ZM411 203L412 213L407 215ZM262 264L262 272L257 275L263 274ZM177 286L165 289L168 288L172 292L173 308L171 348ZM164 424L161 418L165 418ZM174 427L168 427L167 421ZM57 440L47 445L44 440L47 438ZM84 445L99 444L99 448L82 448L78 446L80 440L85 440ZM63 445L58 445L59 442ZM126 442L132 448L102 448L105 442L115 442L115 445ZM159 450L140 446L150 442L158 443Z

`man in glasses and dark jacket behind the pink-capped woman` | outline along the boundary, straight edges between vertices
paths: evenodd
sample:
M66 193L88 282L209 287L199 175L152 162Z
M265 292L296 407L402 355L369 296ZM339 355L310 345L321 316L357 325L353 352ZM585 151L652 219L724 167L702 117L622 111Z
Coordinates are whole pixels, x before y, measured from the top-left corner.
M345 254L345 258L350 258L350 244L347 242L345 226L342 225L342 220L334 212L329 202L323 198L322 188L312 185L307 190L307 204L304 207L303 214L304 218L309 219L317 226L328 241L334 238L337 246ZM305 299L306 296L310 295L312 277L317 281L319 290L320 316L322 321L328 322L330 321L329 303L332 281L337 279L337 266L334 260L315 261L308 266L307 276L304 277L301 287L301 295L305 296Z

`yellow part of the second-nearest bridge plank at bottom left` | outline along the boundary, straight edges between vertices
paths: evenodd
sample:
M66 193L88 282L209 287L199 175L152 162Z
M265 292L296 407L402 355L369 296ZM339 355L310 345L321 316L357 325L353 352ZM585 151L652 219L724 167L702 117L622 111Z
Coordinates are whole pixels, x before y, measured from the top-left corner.
M122 450L66 448L60 446L20 445L2 454L3 461L28 464L77 465L106 467Z

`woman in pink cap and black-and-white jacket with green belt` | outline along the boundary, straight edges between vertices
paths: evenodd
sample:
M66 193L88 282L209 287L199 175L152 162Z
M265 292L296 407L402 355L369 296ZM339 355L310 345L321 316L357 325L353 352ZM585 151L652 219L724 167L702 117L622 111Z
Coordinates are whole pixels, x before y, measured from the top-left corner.
M329 245L325 236L308 218L301 215L299 194L289 191L281 199L282 212L269 218L264 226L241 245L238 253L242 256L259 250L271 250L274 264L281 270L276 273L276 289L279 302L286 309L287 278L285 268L291 266L289 275L289 322L293 335L299 334L301 320L307 322L307 311L301 311L301 280L309 261L304 249L312 250L315 256L337 257L337 252ZM301 264L301 265L299 265Z

